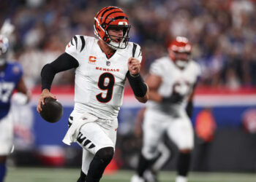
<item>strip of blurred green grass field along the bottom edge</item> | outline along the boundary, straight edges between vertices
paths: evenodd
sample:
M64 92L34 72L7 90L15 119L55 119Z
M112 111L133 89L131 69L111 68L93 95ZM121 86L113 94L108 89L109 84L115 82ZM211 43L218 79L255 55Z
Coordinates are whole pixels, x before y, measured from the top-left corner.
M9 168L5 182L75 182L79 169L59 168ZM104 175L101 182L129 182L134 172L119 170L118 173ZM161 172L159 182L173 182L176 173ZM252 173L190 173L189 182L256 182Z

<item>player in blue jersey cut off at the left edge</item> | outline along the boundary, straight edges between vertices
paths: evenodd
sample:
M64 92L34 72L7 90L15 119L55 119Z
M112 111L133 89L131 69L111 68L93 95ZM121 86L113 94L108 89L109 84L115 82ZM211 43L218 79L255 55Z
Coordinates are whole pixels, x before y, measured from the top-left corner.
M13 147L13 121L10 114L11 96L13 90L26 95L25 103L29 101L29 92L23 82L23 68L19 63L7 62L9 41L0 35L0 182L6 174L6 160Z

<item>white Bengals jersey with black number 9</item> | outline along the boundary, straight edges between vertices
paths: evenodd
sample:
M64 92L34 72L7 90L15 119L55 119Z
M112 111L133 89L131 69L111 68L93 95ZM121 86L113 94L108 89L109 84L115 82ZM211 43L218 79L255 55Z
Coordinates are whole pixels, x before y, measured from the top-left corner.
M129 42L108 59L91 36L74 36L66 52L78 60L75 70L75 111L89 112L102 119L114 119L123 103L124 83L130 57L140 62L138 44Z

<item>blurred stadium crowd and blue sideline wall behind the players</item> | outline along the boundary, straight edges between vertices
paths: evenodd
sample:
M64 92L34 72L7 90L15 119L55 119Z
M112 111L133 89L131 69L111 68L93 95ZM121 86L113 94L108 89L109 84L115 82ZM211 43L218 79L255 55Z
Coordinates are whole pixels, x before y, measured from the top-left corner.
M175 36L187 36L192 58L203 74L195 95L192 122L203 108L211 108L217 130L211 142L196 138L192 170L256 171L256 1L254 0L22 0L0 1L0 23L10 18L15 33L10 39L10 59L24 67L25 81L33 93L29 106L13 104L15 151L10 166L80 167L78 146L61 143L73 106L73 70L56 76L53 93L64 106L56 124L36 112L42 66L54 60L75 34L94 36L94 15L102 7L124 9L132 25L130 41L143 52L142 74L152 61L166 54ZM140 140L132 130L142 105L133 99L127 84L121 108L115 160L109 170L133 169ZM173 170L173 159L165 170ZM200 153L203 152L203 153ZM198 163L203 162L203 163ZM200 167L198 167L200 166Z

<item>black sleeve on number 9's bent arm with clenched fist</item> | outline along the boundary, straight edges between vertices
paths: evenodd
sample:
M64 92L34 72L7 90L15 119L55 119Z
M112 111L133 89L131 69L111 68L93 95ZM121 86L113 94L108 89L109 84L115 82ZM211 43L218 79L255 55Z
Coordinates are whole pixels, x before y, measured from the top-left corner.
M129 84L132 87L132 90L133 90L135 96L142 98L143 96L146 95L148 87L146 86L146 84L143 81L143 78L140 76L140 74L132 76L128 71L127 79L129 81Z

